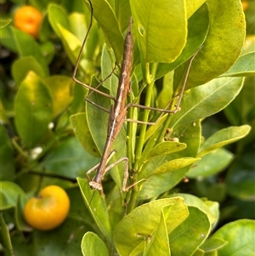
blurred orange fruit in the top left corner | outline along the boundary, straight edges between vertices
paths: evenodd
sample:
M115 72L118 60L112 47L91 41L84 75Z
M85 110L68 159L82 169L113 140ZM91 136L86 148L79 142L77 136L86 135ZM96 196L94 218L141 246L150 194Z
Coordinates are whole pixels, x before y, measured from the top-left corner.
M34 38L38 37L42 14L35 8L25 5L14 13L14 26Z

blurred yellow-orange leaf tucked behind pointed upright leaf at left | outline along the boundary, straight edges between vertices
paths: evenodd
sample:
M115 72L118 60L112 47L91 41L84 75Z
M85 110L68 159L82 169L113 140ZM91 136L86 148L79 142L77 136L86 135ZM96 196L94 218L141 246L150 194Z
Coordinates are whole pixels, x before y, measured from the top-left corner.
M72 89L74 82L71 77L52 76L45 79L48 88L54 99L54 114L57 117L61 112L65 111L73 99Z

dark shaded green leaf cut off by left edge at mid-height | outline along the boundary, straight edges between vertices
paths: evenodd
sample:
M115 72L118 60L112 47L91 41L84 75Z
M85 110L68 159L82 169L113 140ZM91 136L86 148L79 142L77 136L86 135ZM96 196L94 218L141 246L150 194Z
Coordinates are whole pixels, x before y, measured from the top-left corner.
M3 125L0 125L0 134L0 180L13 180L15 174L14 149Z

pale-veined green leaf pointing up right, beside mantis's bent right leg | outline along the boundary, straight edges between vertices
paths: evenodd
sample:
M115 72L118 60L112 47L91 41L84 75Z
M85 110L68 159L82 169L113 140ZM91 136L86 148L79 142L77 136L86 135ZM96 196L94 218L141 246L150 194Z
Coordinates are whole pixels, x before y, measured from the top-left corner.
M172 128L212 116L235 99L243 85L241 77L221 77L184 94L181 111L173 115Z

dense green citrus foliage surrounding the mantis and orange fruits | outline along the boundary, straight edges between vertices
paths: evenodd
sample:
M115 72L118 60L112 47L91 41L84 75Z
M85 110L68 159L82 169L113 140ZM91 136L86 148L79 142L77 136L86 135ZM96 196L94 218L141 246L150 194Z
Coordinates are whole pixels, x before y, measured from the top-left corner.
M91 9L87 1L37 1L38 38L14 26L23 0L2 3L0 252L4 255L252 255L254 248L254 3L238 0L91 0L94 21L77 79L116 95L124 37L133 17L129 107L111 162L123 162L92 191L109 114L73 82ZM171 4L170 4L171 3ZM247 20L247 28L246 28ZM246 34L247 31L247 34ZM202 48L201 48L202 46ZM187 82L190 58L196 53ZM89 100L109 110L100 94ZM63 225L33 230L31 196L59 185L71 200ZM82 244L82 245L81 245ZM81 248L82 247L82 248Z

